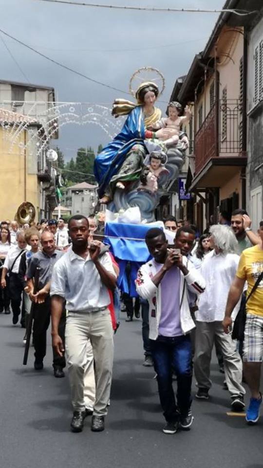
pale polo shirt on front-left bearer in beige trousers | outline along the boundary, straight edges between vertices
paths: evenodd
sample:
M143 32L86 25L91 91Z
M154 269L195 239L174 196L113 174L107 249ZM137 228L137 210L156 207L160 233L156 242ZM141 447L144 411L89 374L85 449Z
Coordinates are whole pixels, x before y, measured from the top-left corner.
M110 254L102 254L99 261L116 278ZM110 304L108 289L90 255L84 259L76 255L72 247L54 265L50 295L55 294L66 299L69 312L92 312Z

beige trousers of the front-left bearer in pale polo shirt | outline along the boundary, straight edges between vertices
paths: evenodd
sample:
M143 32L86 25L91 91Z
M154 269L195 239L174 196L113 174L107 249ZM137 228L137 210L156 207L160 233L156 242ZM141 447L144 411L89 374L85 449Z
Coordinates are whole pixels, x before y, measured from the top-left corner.
M94 369L96 388L94 415L106 415L113 370L113 328L109 309L86 313L68 312L65 348L74 410L82 411L87 405L85 387L90 388ZM91 351L94 356L94 366L91 361ZM88 385L87 373L90 377Z

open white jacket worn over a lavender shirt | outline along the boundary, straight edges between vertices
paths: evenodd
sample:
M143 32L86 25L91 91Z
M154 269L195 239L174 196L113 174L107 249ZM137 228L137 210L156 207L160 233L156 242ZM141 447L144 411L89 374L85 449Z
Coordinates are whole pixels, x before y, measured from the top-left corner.
M195 328L194 321L191 317L188 305L187 290L195 294L201 294L205 291L206 283L201 274L194 268L193 264L183 256L183 263L187 266L189 273L184 276L182 272L180 281L180 322L184 333L188 333ZM138 270L136 290L138 294L149 302L149 338L156 340L158 337L158 328L161 317L161 285L155 286L151 278L157 273L152 260ZM174 292L175 294L177 291Z

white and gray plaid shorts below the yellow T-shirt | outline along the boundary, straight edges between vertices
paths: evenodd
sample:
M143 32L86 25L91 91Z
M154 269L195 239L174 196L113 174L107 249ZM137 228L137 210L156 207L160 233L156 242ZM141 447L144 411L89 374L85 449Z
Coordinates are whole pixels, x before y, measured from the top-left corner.
M246 316L243 361L263 361L263 317L252 313Z

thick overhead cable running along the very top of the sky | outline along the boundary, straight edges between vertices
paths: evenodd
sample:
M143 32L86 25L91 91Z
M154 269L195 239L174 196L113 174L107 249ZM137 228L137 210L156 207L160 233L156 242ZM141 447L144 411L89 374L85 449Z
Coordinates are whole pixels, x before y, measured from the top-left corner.
M49 3L64 3L67 5L78 5L78 6L89 6L93 8L110 8L115 10L137 10L137 11L162 11L162 12L182 12L182 13L233 13L239 16L251 15L253 13L258 13L258 10L247 11L239 9L221 9L221 10L204 10L201 8L162 8L162 7L151 7L151 6L125 6L125 5L102 5L99 3L84 3L78 1L66 1L66 0L37 0L37 1L46 1Z

